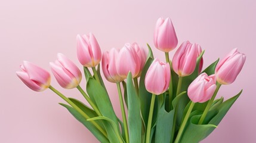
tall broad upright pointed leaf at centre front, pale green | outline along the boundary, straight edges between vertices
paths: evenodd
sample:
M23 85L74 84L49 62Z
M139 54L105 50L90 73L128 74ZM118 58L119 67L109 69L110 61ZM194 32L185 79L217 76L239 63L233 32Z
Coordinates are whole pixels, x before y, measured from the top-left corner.
M131 72L127 76L127 99L128 99L128 130L129 142L141 142L142 121L140 117L140 99L136 94Z

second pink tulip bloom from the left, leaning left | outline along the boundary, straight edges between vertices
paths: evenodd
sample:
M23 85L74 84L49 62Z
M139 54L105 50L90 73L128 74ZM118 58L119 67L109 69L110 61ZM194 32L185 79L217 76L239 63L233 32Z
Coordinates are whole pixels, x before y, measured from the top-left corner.
M50 63L51 70L61 87L76 88L82 80L81 71L65 55L58 53L57 60Z

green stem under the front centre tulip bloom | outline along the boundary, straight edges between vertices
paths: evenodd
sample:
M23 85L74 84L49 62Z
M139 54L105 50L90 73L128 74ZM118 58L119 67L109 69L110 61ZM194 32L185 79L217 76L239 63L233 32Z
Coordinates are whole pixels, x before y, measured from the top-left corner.
M150 110L149 110L149 120L148 120L148 122L147 122L146 143L149 143L149 142L150 142L150 132L151 132L151 125L152 125L152 117L153 117L155 99L156 99L156 95L155 95L155 94L152 94L151 104L150 104Z

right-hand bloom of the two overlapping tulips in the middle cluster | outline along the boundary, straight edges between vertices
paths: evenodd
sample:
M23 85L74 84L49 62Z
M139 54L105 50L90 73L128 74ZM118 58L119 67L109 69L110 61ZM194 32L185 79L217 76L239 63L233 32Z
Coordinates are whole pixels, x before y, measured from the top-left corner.
M131 71L132 77L137 77L140 73L140 68L141 58L138 57L134 46L131 43L125 43L116 60L116 71L119 76L126 79L129 71Z

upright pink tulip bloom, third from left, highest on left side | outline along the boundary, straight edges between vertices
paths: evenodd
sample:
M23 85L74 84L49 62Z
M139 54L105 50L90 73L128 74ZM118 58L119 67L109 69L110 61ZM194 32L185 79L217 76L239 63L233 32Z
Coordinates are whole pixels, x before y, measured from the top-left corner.
M77 41L77 54L78 60L85 67L95 67L101 60L100 46L94 35L78 35Z

